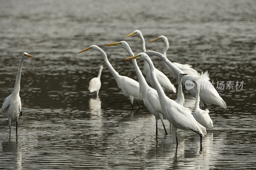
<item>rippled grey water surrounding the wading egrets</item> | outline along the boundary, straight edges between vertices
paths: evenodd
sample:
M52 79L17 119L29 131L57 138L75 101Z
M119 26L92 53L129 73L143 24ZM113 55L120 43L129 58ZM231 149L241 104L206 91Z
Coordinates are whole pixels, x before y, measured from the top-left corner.
M23 115L9 135L0 117L1 169L245 169L256 165L256 3L255 1L0 1L0 104L12 93L23 52L20 97ZM216 81L244 81L242 90L217 90L227 109L207 107L214 127L199 136L178 132L164 121L164 135L147 108L131 111L92 44L106 51L120 75L137 80L122 48L102 46L140 29L148 50L162 51L159 35L169 38L168 58L209 70ZM134 54L137 36L126 38ZM151 57L167 74L162 61ZM142 62L138 61L142 66ZM100 99L88 92L99 66ZM170 77L169 77L170 78ZM177 88L175 79L170 78ZM216 85L214 85L216 87ZM194 98L184 90L185 106ZM166 92L171 99L176 94Z

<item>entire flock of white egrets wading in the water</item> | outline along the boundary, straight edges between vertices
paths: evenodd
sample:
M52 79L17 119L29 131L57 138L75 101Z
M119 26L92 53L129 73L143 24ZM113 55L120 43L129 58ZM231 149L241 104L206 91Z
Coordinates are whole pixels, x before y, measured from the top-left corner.
M119 73L112 67L108 61L106 53L98 46L91 45L89 48L86 48L79 53L87 51L89 49L97 50L103 56L108 70L111 72L112 76L116 80L118 87L122 90L125 96L129 97L132 103L135 100L138 106L140 107L137 100L143 100L145 106L148 110L156 117L156 135L157 135L157 120L160 119L164 126L164 117L172 124L176 136L176 144L178 146L177 138L177 129L183 129L186 131L194 131L200 135L200 146L202 147L202 137L206 134L206 128L212 128L212 120L209 116L209 110L202 110L199 105L204 107L204 104L211 105L215 104L222 108L227 108L226 103L220 97L219 93L213 87L212 83L209 81L208 72L204 72L201 75L191 67L189 64L180 64L172 63L168 60L166 52L169 48L168 39L161 35L153 41L162 40L165 42L163 49L163 54L155 51L147 51L145 47L145 40L140 32L140 30L135 30L133 33L127 35L126 37L138 35L142 42L142 51L138 55L134 55L131 48L125 41L120 41L116 43L106 44L105 46L118 46L124 48L130 57L124 59L132 59L134 69L136 71L139 82L128 78L126 76L121 76ZM125 37L125 38L126 38ZM160 57L164 62L164 67L168 70L170 76L178 79L178 95L176 100L172 100L167 97L164 91L172 91L176 93L176 88L171 83L171 81L164 75L160 70L157 70L154 67L151 59L148 55L156 55ZM23 53L20 60L20 66L17 73L14 89L11 95L6 97L2 106L2 114L9 121L10 133L11 133L11 120L16 121L16 133L17 133L17 121L19 115L22 115L21 112L21 101L20 101L20 75L21 75L21 66L23 61L28 58L33 57L28 55L28 53ZM144 68L143 73L146 76L142 75L140 68L137 65L137 60L144 59ZM97 92L100 90L101 82L100 76L103 66L100 66L98 76L92 78L89 83L89 91ZM191 110L186 107L183 107L185 102L184 95L182 92L182 84L184 85L187 80L195 83L194 88L190 89L189 92L196 98L195 102L195 111L194 115L191 114ZM148 83L151 87L148 85ZM204 88L202 88L204 84ZM201 86L200 86L201 85ZM152 88L153 87L153 88ZM165 134L167 131L165 129Z

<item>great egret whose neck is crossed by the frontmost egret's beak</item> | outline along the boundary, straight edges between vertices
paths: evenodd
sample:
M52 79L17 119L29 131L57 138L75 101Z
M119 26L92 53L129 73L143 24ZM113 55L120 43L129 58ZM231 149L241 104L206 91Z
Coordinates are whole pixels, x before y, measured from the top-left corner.
M130 56L134 56L132 49L130 48L130 46L126 41L112 43L112 46L124 48ZM156 137L157 137L157 120L160 119L164 126L164 119L163 119L164 112L160 105L158 94L155 89L153 89L147 84L135 59L132 60L132 63L135 68L137 77L139 79L140 94L143 98L144 104L148 108L150 113L152 113L156 118ZM164 131L165 131L165 135L167 135L165 126L164 126Z

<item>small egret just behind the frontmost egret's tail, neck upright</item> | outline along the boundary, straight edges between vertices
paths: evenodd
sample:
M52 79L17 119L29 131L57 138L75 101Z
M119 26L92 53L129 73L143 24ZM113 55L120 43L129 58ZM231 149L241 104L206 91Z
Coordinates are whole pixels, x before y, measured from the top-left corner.
M202 74L200 78L202 78L203 76L205 76L204 74ZM198 79L198 80L199 80ZM197 82L198 82L197 80ZM195 102L195 111L194 111L194 118L196 119L197 122L199 122L201 125L206 126L208 128L212 128L212 119L209 116L209 110L202 110L199 107L199 101L200 101L200 97L199 97L199 92L200 92L200 83L196 83L195 81L193 81L196 84L196 88L197 88L197 92L196 92L196 102Z

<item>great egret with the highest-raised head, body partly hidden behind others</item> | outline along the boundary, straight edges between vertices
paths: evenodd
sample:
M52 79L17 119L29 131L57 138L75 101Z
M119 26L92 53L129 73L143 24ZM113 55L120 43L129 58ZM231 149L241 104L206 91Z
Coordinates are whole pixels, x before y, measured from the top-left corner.
M138 35L140 37L140 40L141 40L141 43L142 43L142 52L145 52L146 51L145 40L144 40L144 37L143 37L142 33L140 32L140 30L135 30L133 33L130 33L126 37L129 37L129 36L132 36L132 35ZM126 37L124 37L124 38L126 38ZM156 77L157 77L160 85L163 87L163 89L173 91L174 93L176 93L176 88L171 83L169 78L167 76L165 76L164 73L162 73L160 70L158 70L156 68L155 68L155 72L156 72ZM148 63L146 61L144 61L143 73L146 75L146 80L148 81L148 83L152 87L155 87L155 85L152 81L152 78L151 78Z

